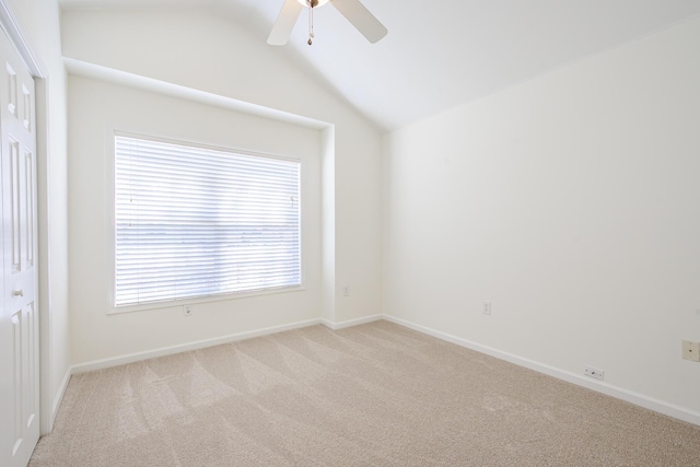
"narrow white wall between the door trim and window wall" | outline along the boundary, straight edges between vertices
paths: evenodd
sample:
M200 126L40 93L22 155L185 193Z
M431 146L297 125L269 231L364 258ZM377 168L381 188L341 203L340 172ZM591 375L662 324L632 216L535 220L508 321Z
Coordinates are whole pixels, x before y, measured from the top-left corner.
M46 135L39 137L38 227L39 227L39 306L42 308L42 351L49 366L48 394L55 415L66 383L69 360L68 255L66 200L66 70L61 60L59 9L55 0L4 0L46 79L48 121ZM42 97L39 97L42 98ZM43 416L46 412L43 408ZM47 431L51 420L43 420Z

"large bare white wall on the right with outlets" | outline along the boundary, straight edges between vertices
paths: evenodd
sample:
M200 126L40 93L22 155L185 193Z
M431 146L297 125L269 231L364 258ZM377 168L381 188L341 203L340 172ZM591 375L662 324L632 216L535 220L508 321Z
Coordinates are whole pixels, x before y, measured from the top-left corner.
M387 135L385 313L698 417L698 83L695 20Z

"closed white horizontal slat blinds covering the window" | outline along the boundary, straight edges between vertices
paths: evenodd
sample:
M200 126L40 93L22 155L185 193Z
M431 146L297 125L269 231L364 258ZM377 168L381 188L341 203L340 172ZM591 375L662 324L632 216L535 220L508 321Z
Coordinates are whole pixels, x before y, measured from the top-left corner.
M300 285L300 163L115 137L115 306Z

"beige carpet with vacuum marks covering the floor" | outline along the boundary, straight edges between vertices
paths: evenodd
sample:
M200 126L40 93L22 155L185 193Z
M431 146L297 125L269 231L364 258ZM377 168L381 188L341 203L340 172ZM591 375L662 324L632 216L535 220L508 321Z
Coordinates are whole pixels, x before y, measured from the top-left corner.
M700 466L700 428L406 329L73 376L31 466Z

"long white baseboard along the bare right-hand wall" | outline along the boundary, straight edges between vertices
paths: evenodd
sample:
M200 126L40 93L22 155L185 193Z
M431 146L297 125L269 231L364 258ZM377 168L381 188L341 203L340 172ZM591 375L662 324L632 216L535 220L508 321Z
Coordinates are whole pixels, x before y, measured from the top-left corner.
M619 386L615 386L608 383L591 380L590 377L571 373L564 370L557 369L555 366L547 365L545 363L536 362L534 360L525 359L523 357L515 355L513 353L503 352L491 347L481 346L480 343L471 342L466 339L462 339L456 336L452 336L446 332L441 332L435 329L431 329L425 326L417 325L406 319L397 318L395 316L383 315L383 318L387 322L395 323L397 325L405 326L409 329L417 330L429 336L436 337L438 339L445 340L447 342L456 343L457 346L465 347L477 352L486 353L491 357L495 357L500 360L514 363L518 366L524 366L528 370L534 370L538 373L544 373L549 376L553 376L558 380L565 381L568 383L575 384L578 386L585 387L587 389L595 390L597 393L605 394L607 396L615 397L617 399L626 400L634 404L635 406L644 407L645 409L653 410L655 412L664 413L668 417L676 418L678 420L687 421L692 424L700 425L700 412L687 409L685 407L676 406L674 404L666 402L664 400L655 399L653 397L645 396L643 394L634 393L632 390L625 389Z

